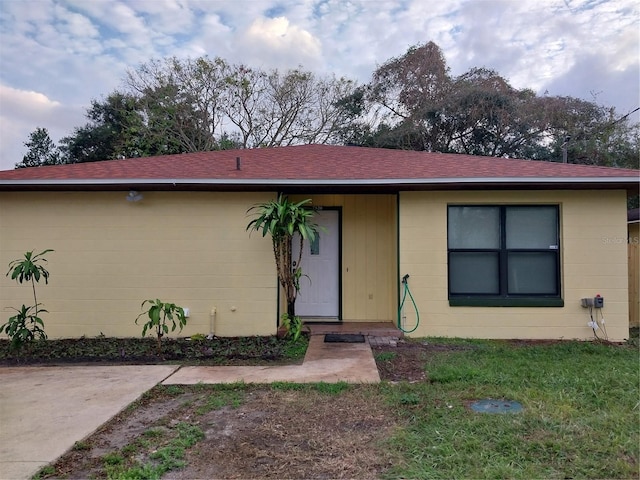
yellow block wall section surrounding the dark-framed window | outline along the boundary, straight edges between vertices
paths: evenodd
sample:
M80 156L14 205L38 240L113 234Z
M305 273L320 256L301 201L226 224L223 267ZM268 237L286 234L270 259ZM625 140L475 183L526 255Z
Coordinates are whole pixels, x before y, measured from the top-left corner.
M400 274L420 311L413 336L589 339L580 299L600 294L610 340L628 338L626 193L624 191L403 192ZM560 205L564 307L451 307L447 289L447 205ZM415 322L407 310L407 325Z

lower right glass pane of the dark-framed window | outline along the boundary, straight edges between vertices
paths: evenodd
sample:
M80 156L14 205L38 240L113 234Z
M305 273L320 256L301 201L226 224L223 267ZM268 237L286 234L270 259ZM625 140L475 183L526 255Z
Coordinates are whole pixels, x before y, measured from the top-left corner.
M558 294L555 252L510 252L508 258L510 294Z

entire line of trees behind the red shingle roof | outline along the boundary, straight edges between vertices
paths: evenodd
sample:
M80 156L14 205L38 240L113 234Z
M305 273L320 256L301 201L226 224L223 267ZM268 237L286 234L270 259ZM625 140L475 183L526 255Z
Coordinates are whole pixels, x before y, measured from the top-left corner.
M87 120L59 147L36 129L17 167L308 143L629 168L640 154L640 127L628 115L517 89L486 68L454 76L433 42L389 59L363 85L302 67L151 60L93 100Z

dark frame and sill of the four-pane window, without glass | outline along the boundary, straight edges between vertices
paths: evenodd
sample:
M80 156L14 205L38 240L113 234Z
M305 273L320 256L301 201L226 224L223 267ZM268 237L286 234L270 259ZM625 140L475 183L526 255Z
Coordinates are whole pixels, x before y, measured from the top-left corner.
M449 246L449 221L452 208L498 208L500 245L499 248L451 248ZM556 215L556 248L507 248L507 210L517 208L549 208L555 209ZM447 291L450 306L500 306L500 307L563 307L561 281L561 243L560 243L560 206L557 204L449 204L447 205ZM493 293L452 293L451 254L456 253L494 253L498 256L498 294ZM544 253L553 254L556 264L554 293L509 293L509 254L510 253Z

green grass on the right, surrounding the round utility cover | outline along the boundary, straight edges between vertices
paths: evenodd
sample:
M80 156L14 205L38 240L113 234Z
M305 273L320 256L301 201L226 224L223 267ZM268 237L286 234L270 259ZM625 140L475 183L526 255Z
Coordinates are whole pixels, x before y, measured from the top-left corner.
M637 348L456 344L468 348L429 354L429 382L380 386L406 421L387 478L638 478ZM468 408L483 398L524 411Z

